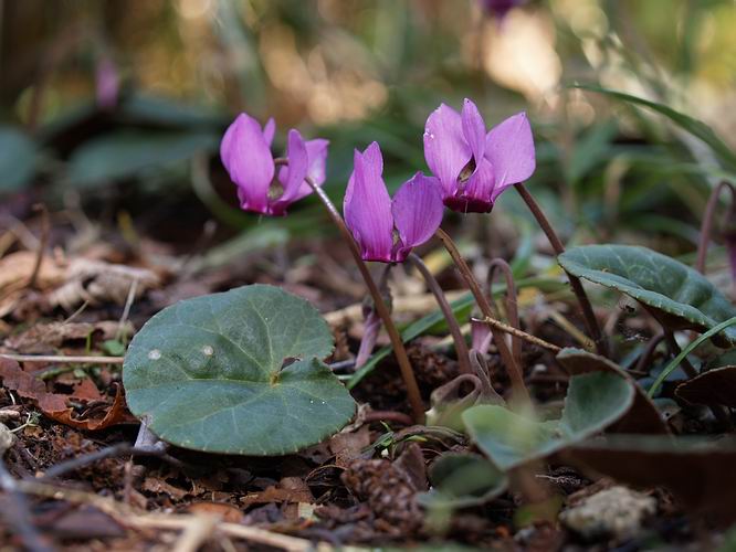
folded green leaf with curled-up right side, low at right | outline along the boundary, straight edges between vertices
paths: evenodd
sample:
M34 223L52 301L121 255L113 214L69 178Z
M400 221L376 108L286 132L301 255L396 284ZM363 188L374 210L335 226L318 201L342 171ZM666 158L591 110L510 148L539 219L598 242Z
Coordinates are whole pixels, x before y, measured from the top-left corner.
M496 405L473 406L462 417L477 447L506 471L601 432L631 407L633 397L631 382L595 372L570 379L558 421L537 422Z

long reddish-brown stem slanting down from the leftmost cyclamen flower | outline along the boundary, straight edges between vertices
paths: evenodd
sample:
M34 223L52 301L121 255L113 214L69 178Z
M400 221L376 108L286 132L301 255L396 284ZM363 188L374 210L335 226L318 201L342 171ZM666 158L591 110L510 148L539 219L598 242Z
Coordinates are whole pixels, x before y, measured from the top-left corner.
M319 201L322 201L322 203L325 205L327 212L329 213L330 219L339 230L345 242L348 244L348 248L353 254L355 264L358 265L360 275L362 276L362 279L366 282L368 291L370 293L370 296L374 299L376 312L378 312L378 316L381 317L383 326L386 327L386 331L388 332L389 339L391 340L391 346L393 347L393 354L396 354L396 360L399 363L399 369L401 370L401 378L403 379L403 383L407 386L407 395L409 397L409 404L411 405L412 417L416 423L421 424L424 421L424 405L422 403L421 395L419 394L419 385L417 385L417 379L414 378L414 372L411 368L411 363L409 362L409 355L407 354L407 350L403 347L403 341L401 341L401 336L399 335L399 330L397 330L393 320L391 320L391 314L389 312L386 302L383 302L381 293L379 291L378 286L374 280L374 277L370 275L368 266L366 266L366 263L360 257L360 250L358 248L358 245L355 243L353 234L350 234L350 231L345 225L343 216L339 214L337 209L335 209L335 205L333 204L333 202L329 200L329 198L322 188L316 185L308 177L305 180L307 184L309 184L312 190L314 190L314 193L317 195L317 198L319 198Z

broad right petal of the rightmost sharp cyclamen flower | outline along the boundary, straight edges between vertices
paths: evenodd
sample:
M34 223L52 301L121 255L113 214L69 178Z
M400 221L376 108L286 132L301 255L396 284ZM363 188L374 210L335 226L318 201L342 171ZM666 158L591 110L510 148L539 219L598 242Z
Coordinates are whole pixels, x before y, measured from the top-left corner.
M508 117L485 138L485 157L493 164L496 182L491 200L512 184L528 179L536 168L534 137L525 113Z

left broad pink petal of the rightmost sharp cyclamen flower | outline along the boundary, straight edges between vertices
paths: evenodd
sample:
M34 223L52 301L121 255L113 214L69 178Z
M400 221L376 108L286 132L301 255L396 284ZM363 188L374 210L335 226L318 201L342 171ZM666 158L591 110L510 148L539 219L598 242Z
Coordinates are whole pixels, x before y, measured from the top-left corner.
M424 125L424 159L440 179L444 195L451 195L458 189L458 176L470 161L471 155L460 114L441 104Z

